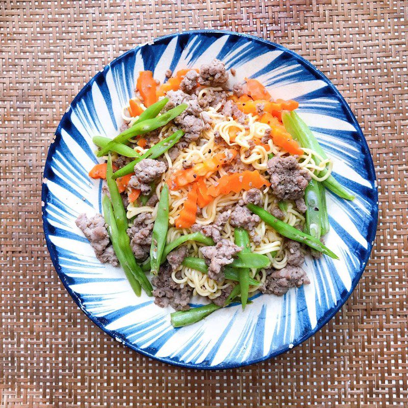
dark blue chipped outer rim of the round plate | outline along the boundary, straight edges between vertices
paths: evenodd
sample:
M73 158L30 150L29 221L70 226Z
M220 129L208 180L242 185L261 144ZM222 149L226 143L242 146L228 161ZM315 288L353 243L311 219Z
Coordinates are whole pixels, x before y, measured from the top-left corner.
M173 359L168 358L168 357L156 356L154 354L149 353L148 351L145 351L145 350L137 347L135 344L131 343L126 338L124 338L122 335L117 333L116 330L107 329L106 326L104 326L104 324L99 321L100 318L97 318L92 313L90 313L89 311L86 310L86 308L82 304L80 296L77 295L77 293L74 292L70 288L69 283L68 283L68 277L64 273L62 273L62 270L61 270L62 268L61 268L61 266L59 264L59 261L58 261L58 256L57 256L57 251L55 249L55 245L49 239L49 235L50 235L49 222L46 219L46 214L45 214L45 209L47 207L46 206L46 196L47 196L47 193L48 193L48 187L46 185L46 182L44 182L44 180L46 179L46 175L49 172L50 159L52 158L52 156L53 156L53 154L55 152L56 142L57 142L58 138L61 138L60 133L61 133L62 124L63 124L64 120L68 117L68 115L71 113L72 105L77 104L78 100L82 98L83 94L85 92L87 92L89 90L89 88L91 88L91 86L96 81L96 79L99 77L99 75L101 75L103 72L105 72L107 69L109 69L111 64L116 64L122 58L125 58L126 55L128 55L130 53L137 52L137 50L139 50L141 47L143 47L145 45L152 45L152 44L155 44L156 42L160 42L160 41L163 41L163 40L166 40L166 39L169 39L169 38L175 38L175 37L179 37L179 36L183 36L183 35L188 36L188 35L194 35L194 34L203 34L203 35L218 34L218 35L220 35L220 37L223 36L223 35L233 35L233 36L246 38L246 39L248 39L250 41L260 42L262 44L265 44L268 47L270 47L272 45L275 49L282 50L285 53L289 53L299 63L301 63L305 67L309 68L310 70L314 71L316 73L316 75L318 77L320 77L319 79L324 81L327 84L327 86L330 87L332 91L334 91L335 95L341 101L342 107L346 109L346 112L347 112L347 114L349 115L349 117L351 119L351 123L354 125L354 127L356 129L356 133L359 136L359 140L362 142L362 147L364 147L368 152L368 156L369 156L370 160L368 160L367 171L368 171L369 176L372 177L372 180L373 180L373 183L374 183L374 188L372 189L373 192L374 192L374 195L372 197L372 201L375 201L375 206L374 206L373 211L371 212L371 220L370 220L370 222L368 224L368 236L367 236L367 245L368 245L368 247L367 247L367 251L366 251L366 256L365 256L364 260L362 260L363 262L361 264L361 267L360 267L360 269L358 270L358 272L355 275L356 278L354 279L354 283L351 282L350 290L347 292L347 294L345 296L340 298L340 301L336 305L336 307L333 308L333 310L330 311L330 313L325 313L324 318L320 319L317 322L316 326L313 329L311 329L310 331L308 331L307 334L303 335L302 337L297 339L297 341L293 342L291 344L292 347L289 347L289 345L288 345L287 347L284 347L284 348L276 350L276 351L272 351L272 352L268 353L267 355L264 355L264 356L262 356L261 358L258 358L258 359L246 360L246 361L243 361L243 362L240 362L240 363L221 363L221 364L218 364L216 366L208 366L208 365L202 364L202 363L200 363L200 364L183 363L183 362L179 362L179 361L173 360ZM57 136L57 134L59 134L59 136ZM378 225L378 188L377 188L377 179L376 179L372 154L371 154L370 148L369 148L369 146L367 144L367 140L364 137L364 133L361 130L359 122L355 118L355 116L354 116L353 112L351 111L349 105L347 104L346 100L341 95L339 90L336 88L336 86L333 83L331 83L331 81L326 77L326 75L323 72L321 72L317 67L315 67L311 62L304 59L302 56L298 55L297 53L295 53L291 49L286 48L283 45L274 43L272 41L265 40L263 38L257 37L257 36L253 36L253 35L246 34L246 33L237 33L237 32L227 31L227 30L190 30L190 31L182 31L180 33L168 34L168 35L161 36L161 37L156 37L152 41L144 42L143 44L137 45L136 47L127 50L123 54L119 55L118 57L116 57L115 59L110 61L104 68L102 68L98 72L96 72L96 74L81 88L81 90L78 92L78 94L75 95L75 97L72 99L71 103L69 104L69 107L66 109L66 111L65 111L64 115L62 116L62 118L61 118L61 120L60 120L60 122L59 122L59 124L57 126L57 129L56 129L56 131L54 133L54 138L53 138L52 142L49 144L42 175L43 175L43 182L42 182L42 186L41 186L41 213L42 213L41 218L42 218L43 232L44 232L44 237L45 237L47 250L49 252L49 255L50 255L51 261L52 261L52 263L54 265L54 268L57 271L58 277L60 278L62 284L64 285L65 290L68 292L68 294L74 300L74 302L77 303L79 309L98 328L100 328L106 334L108 334L110 337L112 337L113 340L118 341L119 343L121 343L122 345L130 348L131 350L136 351L136 352L138 352L138 353L140 353L142 355L145 355L146 357L148 357L150 359L160 361L162 363L166 363L166 364L169 364L169 365L172 365L172 366L177 366L177 367L190 368L190 369L214 370L214 371L216 371L216 370L224 370L224 369L234 369L234 368L238 368L238 367L246 367L246 366L249 366L249 365L252 365L252 364L260 363L260 362L265 361L265 360L269 360L269 359L271 359L273 357L276 357L276 356L278 356L280 354L283 354L283 353L297 347L298 345L300 345L304 341L308 340L310 337L314 336L342 308L344 303L350 297L351 293L354 291L355 287L360 282L361 277L362 277L362 275L364 273L364 270L365 270L365 268L367 266L367 263L368 263L368 261L369 261L369 259L371 257L371 252L372 252L374 239L375 239L375 235L376 235L376 231L377 231L377 225Z

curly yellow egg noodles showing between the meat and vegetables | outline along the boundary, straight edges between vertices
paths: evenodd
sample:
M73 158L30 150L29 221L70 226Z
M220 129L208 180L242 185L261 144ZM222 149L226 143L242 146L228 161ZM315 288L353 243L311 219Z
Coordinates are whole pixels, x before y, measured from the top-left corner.
M203 88L198 94L198 99L203 97L210 90L219 91L221 88ZM238 123L233 117L228 117L222 115L220 110L221 104L215 108L209 108L206 111L206 115L211 118L212 125L210 129L204 130L201 133L200 139L195 142L191 142L186 148L180 151L179 156L172 162L168 153L164 155L165 160L168 163L168 170L163 174L161 182L156 187L156 193L160 197L160 191L169 177L174 171L183 168L183 161L191 162L193 164L201 163L208 159L211 159L215 154L223 152L225 150L225 144L232 146L239 151L239 157L244 164L252 165L253 168L260 171L263 175L267 176L267 162L268 154L273 153L275 156L283 156L287 154L287 151L281 147L275 146L271 139L268 140L268 150L262 144L254 144L253 141L256 139L262 139L265 132L270 128L266 123L261 123L258 121L258 116L253 116L251 114L247 115L248 120L245 124ZM127 123L133 123L135 118L130 118L126 115L127 109L122 110L122 117ZM170 136L174 131L173 125L166 125L163 127L159 134L160 140ZM225 144L217 144L215 142L215 133L219 134L219 137L223 139ZM143 154L146 149L136 146L140 154ZM304 154L297 157L299 166L307 170L314 180L323 181L331 173L333 168L333 162L330 159L323 160L315 151L311 149L303 148ZM316 165L313 156L321 160L319 165ZM323 177L319 177L319 172L327 168L328 171ZM210 176L206 180L207 186L210 186L216 182L216 180L226 174L225 169L222 167ZM188 187L188 186L187 186ZM187 198L187 193L189 189L184 187L180 190L170 190L169 196L169 231L167 234L167 242L172 242L176 238L184 234L189 234L189 230L179 230L174 227L174 222L180 215L180 211L183 208L183 202ZM245 196L246 192L241 191L239 193L230 193L223 196L216 197L208 206L202 209L202 213L197 213L196 223L201 225L208 225L214 222L218 215L225 211L225 208L232 208L238 203L238 201ZM277 199L272 195L270 188L265 187L262 190L263 196L263 208L270 212L273 208L277 206ZM142 213L151 212L153 219L156 217L157 207L137 207L133 203L127 207L127 218L132 217ZM284 222L290 225L303 225L304 217L301 213L296 210L296 207L292 202L288 202L288 209L285 212ZM251 241L251 250L254 253L265 254L271 261L271 266L275 269L282 269L287 265L287 250L283 247L284 239L281 235L277 234L273 228L264 221L258 224L255 228L254 233L261 237L261 242L259 244ZM223 230L221 231L221 238L225 238L234 242L234 228L227 221ZM186 243L188 247L188 254L194 258L203 258L199 247L201 244L193 241ZM276 253L275 257L272 257L271 252ZM256 269L252 270L252 277L257 279L261 284L264 283L266 278L266 272L262 269L257 273ZM207 274L200 271L190 269L185 266L180 266L177 270L172 272L172 279L174 282L180 285L189 285L194 288L194 295L198 294L200 296L206 296L209 299L214 299L221 295L222 289L230 285L235 285L234 282L225 279L222 283L217 283L213 279L209 278ZM249 292L254 292L258 289L257 286L251 286Z

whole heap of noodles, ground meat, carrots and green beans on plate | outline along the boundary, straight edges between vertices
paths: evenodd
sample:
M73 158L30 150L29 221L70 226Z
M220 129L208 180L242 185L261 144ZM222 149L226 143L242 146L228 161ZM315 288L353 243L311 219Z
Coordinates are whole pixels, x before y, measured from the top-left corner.
M245 309L256 291L309 284L305 254L337 258L323 241L325 188L353 196L298 103L274 100L256 79L231 83L219 60L166 78L140 72L120 134L93 139L103 215L77 225L98 260L120 265L136 295L175 309L174 327L231 302ZM210 304L190 309L193 295Z

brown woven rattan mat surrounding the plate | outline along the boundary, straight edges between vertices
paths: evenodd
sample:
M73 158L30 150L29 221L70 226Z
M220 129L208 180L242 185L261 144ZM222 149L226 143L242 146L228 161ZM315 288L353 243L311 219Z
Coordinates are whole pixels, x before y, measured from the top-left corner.
M1 406L408 406L407 20L406 0L2 0ZM335 318L278 358L219 372L158 363L94 326L40 217L47 148L75 94L127 49L198 28L256 34L322 70L362 126L380 193L373 257Z

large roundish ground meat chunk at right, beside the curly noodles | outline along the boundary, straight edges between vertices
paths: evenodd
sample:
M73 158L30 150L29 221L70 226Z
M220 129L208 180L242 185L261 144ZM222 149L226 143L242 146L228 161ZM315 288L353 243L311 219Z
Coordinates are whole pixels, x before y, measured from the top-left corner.
M301 169L295 156L272 157L268 161L267 171L273 194L281 200L297 200L304 195L311 176Z

